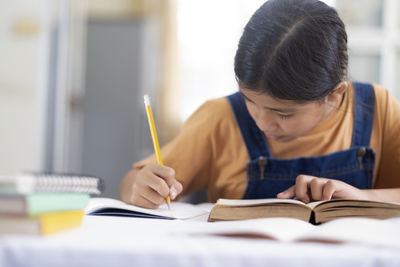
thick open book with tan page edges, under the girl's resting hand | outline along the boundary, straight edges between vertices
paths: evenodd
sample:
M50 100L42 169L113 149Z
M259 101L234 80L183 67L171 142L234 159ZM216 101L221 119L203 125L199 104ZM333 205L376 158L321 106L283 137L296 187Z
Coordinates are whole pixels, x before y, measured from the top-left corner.
M386 219L400 216L396 203L333 199L305 204L293 199L219 199L208 221L290 217L319 224L344 217Z

